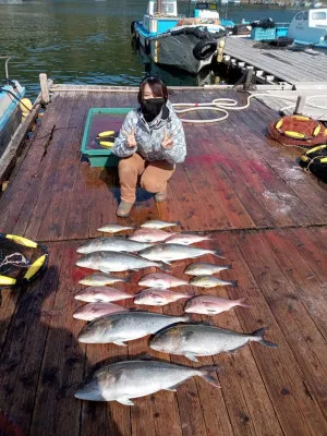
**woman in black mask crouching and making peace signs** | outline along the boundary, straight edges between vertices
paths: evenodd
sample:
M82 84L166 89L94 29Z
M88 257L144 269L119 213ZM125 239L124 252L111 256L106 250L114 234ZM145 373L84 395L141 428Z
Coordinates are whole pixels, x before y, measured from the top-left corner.
M175 164L186 156L182 122L168 100L168 90L159 77L145 77L140 85L137 109L124 119L112 153L121 157L118 172L121 202L119 217L128 217L135 202L137 177L141 186L155 193L156 202L167 197L167 181Z

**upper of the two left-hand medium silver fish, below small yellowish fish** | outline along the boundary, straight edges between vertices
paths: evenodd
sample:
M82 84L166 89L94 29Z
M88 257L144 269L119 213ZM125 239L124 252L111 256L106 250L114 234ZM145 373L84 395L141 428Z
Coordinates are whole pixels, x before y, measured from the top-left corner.
M102 251L137 253L148 246L152 244L131 241L123 237L96 238L80 246L77 253L87 254Z

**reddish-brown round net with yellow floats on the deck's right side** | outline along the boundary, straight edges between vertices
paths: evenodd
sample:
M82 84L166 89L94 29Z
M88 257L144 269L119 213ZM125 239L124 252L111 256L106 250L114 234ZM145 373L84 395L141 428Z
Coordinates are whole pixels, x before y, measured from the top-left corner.
M270 136L283 145L312 147L324 144L327 129L319 121L304 116L286 116L268 126Z

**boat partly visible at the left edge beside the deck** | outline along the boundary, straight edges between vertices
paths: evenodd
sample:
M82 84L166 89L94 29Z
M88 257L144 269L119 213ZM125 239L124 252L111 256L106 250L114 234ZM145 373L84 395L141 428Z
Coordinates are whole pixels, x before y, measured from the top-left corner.
M20 109L20 100L25 95L25 88L17 81L11 81L8 74L8 62L5 59L5 82L0 85L0 158L9 145L12 136L22 123L22 111Z

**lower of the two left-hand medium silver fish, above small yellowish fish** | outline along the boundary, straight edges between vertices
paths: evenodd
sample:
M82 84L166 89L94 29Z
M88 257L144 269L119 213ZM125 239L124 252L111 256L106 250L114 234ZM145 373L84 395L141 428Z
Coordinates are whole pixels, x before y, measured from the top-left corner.
M167 267L159 263L150 262L144 257L140 257L126 253L118 252L96 252L86 254L76 262L77 266L90 269L99 269L102 272L119 272L129 269L137 270L155 266L166 270Z

